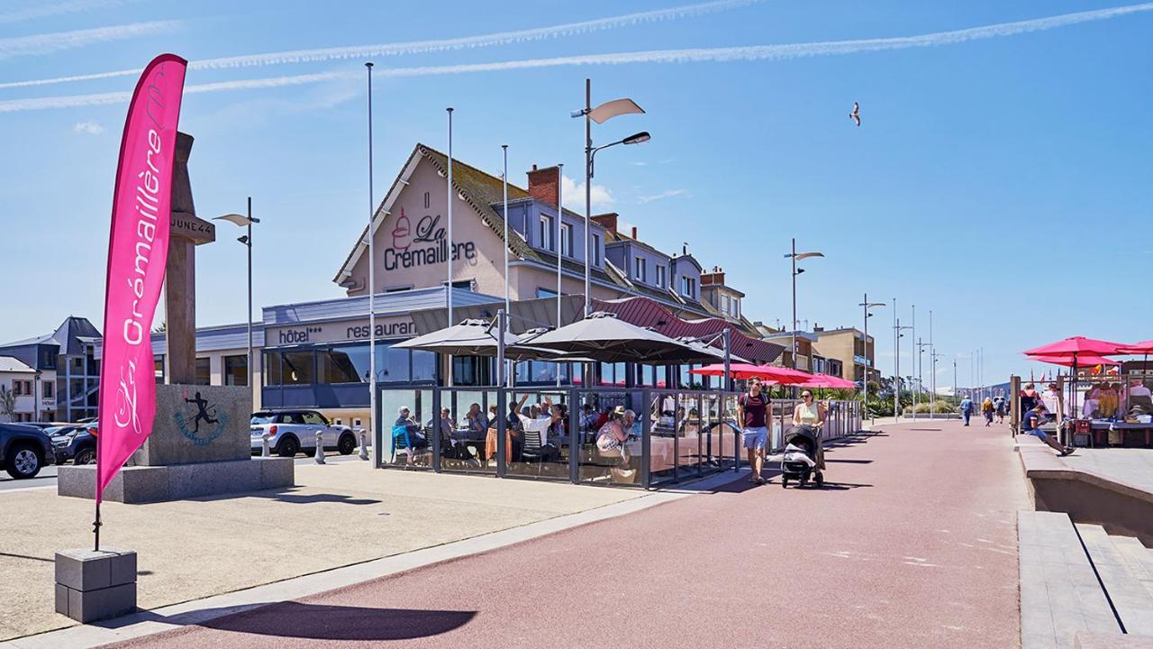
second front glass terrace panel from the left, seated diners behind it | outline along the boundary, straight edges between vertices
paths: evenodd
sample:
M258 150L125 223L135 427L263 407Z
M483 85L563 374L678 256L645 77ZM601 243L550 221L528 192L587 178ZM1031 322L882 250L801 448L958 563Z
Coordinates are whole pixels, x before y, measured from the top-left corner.
M444 389L440 391L440 469L495 473L496 390ZM506 453L511 458L511 438Z

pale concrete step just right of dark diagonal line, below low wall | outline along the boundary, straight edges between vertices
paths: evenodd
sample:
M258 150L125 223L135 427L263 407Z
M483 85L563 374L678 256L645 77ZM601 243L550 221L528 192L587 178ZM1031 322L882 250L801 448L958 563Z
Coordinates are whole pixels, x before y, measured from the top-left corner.
M1125 633L1153 635L1153 592L1141 581L1144 566L1135 569L1101 525L1078 523L1077 531L1101 577ZM1116 537L1120 538L1120 537Z

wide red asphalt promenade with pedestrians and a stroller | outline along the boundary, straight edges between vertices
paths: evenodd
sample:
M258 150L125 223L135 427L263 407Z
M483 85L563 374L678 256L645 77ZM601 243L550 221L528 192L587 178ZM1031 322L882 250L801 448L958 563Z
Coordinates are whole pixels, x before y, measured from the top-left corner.
M821 491L740 479L121 647L1019 646L1008 427L889 425L827 458Z

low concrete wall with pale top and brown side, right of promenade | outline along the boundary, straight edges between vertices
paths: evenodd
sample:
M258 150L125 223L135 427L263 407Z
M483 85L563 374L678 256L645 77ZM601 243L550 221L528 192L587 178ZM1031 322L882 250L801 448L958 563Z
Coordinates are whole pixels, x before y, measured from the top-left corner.
M1018 435L1017 452L1038 512L1063 512L1073 522L1098 524L1153 546L1153 493L1073 469L1028 435Z

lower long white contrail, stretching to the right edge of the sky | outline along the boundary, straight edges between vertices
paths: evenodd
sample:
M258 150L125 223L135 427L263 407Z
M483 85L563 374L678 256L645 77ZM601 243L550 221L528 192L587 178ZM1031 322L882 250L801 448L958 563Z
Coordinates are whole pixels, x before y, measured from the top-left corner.
M497 61L489 64L460 64L451 66L425 66L408 68L378 68L377 75L384 76L430 76L438 74L465 74L481 72L499 72L511 69L544 68L557 66L589 65L625 65L625 64L679 64L701 61L756 61L785 60L802 57L829 57L856 54L861 52L879 52L886 50L905 50L911 47L935 47L969 40L1000 38L1032 31L1056 29L1072 24L1102 21L1153 10L1153 2L1130 5L1111 9L1098 9L1076 14L1063 14L1045 18L1001 23L954 31L939 31L918 36L900 36L891 38L868 38L857 40L827 40L819 43L793 43L785 45L751 45L743 47L701 47L692 50L656 50L648 52L621 52L615 54L587 54L579 57L557 57L551 59L527 59L517 61ZM362 76L354 72L330 72L310 75L278 76L269 79L249 79L189 85L187 92L213 92L220 90L243 90L250 88L278 88L315 83L334 79L353 79ZM70 106L91 106L125 102L129 92L105 92L100 95L74 95L66 97L40 97L35 99L10 99L0 102L0 112L30 111L40 109L59 109Z

